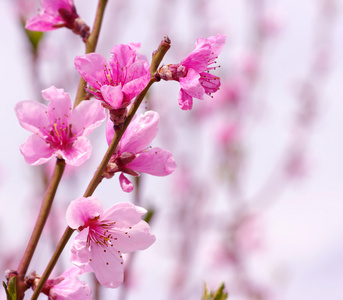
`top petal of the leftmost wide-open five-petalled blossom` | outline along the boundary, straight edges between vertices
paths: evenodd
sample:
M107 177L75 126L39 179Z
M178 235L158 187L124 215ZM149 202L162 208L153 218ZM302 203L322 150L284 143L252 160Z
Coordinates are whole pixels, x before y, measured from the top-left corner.
M63 89L51 86L42 91L42 96L50 101L48 104L50 123L56 124L57 128L67 127L73 109L70 95L65 93Z

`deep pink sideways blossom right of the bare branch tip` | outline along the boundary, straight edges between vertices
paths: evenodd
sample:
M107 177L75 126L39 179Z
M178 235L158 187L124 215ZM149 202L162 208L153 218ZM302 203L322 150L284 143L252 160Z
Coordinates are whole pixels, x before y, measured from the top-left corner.
M225 36L216 35L198 38L195 49L179 64L162 66L158 70L161 79L180 82L179 105L190 110L193 97L203 100L204 94L211 95L220 87L220 78L210 74L214 70L219 53L224 47Z

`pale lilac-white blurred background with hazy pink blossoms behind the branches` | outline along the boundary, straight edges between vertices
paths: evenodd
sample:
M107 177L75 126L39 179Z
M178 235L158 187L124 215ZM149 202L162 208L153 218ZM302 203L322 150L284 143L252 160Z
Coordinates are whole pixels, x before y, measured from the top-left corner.
M89 26L96 5L75 0ZM20 154L29 133L14 106L42 101L40 91L51 85L75 97L73 61L84 53L65 28L44 33L32 48L22 22L39 7L0 2L1 274L18 266L50 172ZM341 0L109 1L97 48L107 58L115 44L140 42L150 60L168 35L163 63L178 63L198 37L227 39L213 98L182 111L178 83L160 82L142 104L160 114L152 146L171 151L177 170L142 175L130 194L114 176L94 194L105 208L131 201L153 210L157 238L126 257L125 283L100 288L101 299L201 299L205 282L210 289L224 282L234 300L343 298L342 10ZM66 170L30 270L41 274L51 257L66 207L106 150L104 130L92 133L91 159ZM66 249L55 275L70 265ZM96 289L91 276L82 280Z

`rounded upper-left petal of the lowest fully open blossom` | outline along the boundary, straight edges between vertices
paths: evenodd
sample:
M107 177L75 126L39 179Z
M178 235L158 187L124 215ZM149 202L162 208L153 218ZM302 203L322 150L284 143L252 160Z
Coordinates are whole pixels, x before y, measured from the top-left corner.
M67 208L67 224L70 228L77 229L85 225L89 219L94 219L102 214L103 207L97 198L77 198Z

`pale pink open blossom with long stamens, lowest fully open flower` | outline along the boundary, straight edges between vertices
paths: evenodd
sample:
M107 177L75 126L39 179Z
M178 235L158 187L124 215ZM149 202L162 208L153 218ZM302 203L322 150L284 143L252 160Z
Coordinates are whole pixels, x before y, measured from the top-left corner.
M67 223L80 233L71 248L72 263L93 271L99 282L116 288L123 282L122 253L144 250L155 242L144 208L118 203L105 212L95 197L78 198L67 209Z

